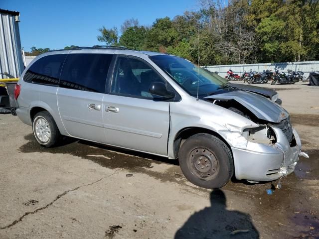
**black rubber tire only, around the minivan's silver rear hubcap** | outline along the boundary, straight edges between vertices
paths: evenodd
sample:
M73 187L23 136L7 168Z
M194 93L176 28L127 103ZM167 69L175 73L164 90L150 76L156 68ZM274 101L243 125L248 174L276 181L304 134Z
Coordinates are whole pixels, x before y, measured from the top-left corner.
M35 130L36 123L38 122L39 119L44 119L48 124L50 136L49 136L49 139L47 141L42 141L36 133L36 130ZM60 133L57 125L56 125L53 117L47 111L41 111L34 116L33 121L32 121L32 129L33 129L33 134L34 134L36 141L40 145L42 145L43 147L49 148L49 147L55 146L55 145L57 145L57 143L61 139L61 133Z

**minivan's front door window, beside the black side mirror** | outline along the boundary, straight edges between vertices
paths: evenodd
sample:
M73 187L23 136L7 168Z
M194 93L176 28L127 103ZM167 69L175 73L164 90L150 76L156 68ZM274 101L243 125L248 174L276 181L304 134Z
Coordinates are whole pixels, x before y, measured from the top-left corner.
M113 75L111 93L153 99L149 93L153 82L165 83L148 64L136 58L120 56Z

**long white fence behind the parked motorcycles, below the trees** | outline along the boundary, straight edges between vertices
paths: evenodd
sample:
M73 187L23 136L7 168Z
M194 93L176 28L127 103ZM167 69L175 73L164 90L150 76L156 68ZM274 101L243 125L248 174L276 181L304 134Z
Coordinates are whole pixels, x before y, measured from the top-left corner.
M319 71L319 61L300 61L300 62L281 62L281 63L260 63L260 64L238 64L238 65L220 65L220 66L206 66L205 69L215 72L222 77L226 76L227 71L231 69L234 73L241 75L244 71L262 72L264 70L275 71L275 68L287 73L288 70L303 71L305 77L309 76L310 72Z

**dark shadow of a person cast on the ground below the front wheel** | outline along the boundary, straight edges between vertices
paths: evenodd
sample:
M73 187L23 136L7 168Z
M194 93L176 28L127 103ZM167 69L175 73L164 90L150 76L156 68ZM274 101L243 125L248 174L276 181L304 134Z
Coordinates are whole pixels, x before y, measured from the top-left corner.
M175 239L259 238L259 233L249 214L226 209L226 197L222 190L213 190L210 194L210 202L210 207L190 216L176 232ZM232 232L235 234L231 235Z

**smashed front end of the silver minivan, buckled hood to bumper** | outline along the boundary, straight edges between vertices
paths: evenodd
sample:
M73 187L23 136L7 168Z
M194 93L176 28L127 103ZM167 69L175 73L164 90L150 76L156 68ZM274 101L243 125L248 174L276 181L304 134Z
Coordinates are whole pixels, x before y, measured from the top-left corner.
M257 125L245 129L236 129L236 122L225 125L229 131L240 134L240 143L231 146L237 179L276 180L295 170L299 156L308 157L301 151L301 140L291 125L288 112L270 100L243 91L215 95L206 100ZM226 140L227 137L230 136L226 135Z

